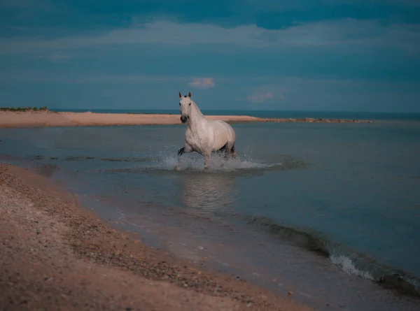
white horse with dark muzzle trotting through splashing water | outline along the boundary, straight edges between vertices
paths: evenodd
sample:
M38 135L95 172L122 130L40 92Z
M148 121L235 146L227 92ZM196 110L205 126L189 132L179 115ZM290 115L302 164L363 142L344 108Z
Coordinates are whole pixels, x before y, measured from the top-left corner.
M179 150L178 158L186 152L198 152L204 157L204 169L209 167L211 152L225 152L225 159L236 158L236 134L228 123L221 120L208 120L195 102L179 92L179 110L181 122L186 123L186 143ZM176 166L179 169L180 164Z

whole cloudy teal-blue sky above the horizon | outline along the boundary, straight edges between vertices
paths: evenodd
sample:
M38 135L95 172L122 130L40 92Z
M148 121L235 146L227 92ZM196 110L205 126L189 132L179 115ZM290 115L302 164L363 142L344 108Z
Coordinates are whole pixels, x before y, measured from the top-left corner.
M420 113L418 0L2 0L0 106Z

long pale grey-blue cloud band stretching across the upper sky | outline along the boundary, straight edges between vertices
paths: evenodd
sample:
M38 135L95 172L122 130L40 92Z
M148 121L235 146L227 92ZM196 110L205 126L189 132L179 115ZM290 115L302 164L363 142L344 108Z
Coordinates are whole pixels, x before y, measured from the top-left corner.
M125 29L63 38L3 38L0 53L86 49L109 45L225 45L238 48L391 48L420 53L420 24L380 24L376 20L330 20L265 29L256 24L223 28L212 24L155 21Z

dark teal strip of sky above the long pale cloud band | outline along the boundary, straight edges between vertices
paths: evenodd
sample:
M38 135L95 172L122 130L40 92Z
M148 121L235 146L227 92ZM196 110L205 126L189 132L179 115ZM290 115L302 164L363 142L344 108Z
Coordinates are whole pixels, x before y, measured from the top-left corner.
M140 24L165 16L182 23L207 23L223 27L257 24L266 29L282 29L293 24L353 18L355 20L419 21L418 0L297 0L255 1L214 0L206 6L197 0L154 1L75 1L75 0L2 0L0 8L19 8L19 14L6 12L0 24L20 25L41 31L55 32L59 28L71 32L125 27L130 21ZM51 8L53 8L51 10ZM235 15L232 15L235 8ZM36 14L34 14L36 13ZM1 12L0 12L1 16Z

